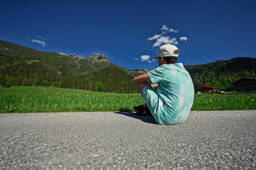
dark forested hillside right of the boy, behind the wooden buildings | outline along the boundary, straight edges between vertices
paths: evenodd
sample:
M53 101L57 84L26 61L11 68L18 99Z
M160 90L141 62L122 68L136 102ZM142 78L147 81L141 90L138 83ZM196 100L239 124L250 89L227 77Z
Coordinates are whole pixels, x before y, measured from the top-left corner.
M231 89L234 82L242 77L256 77L256 58L236 57L213 63L184 66L189 71L194 86L215 86Z

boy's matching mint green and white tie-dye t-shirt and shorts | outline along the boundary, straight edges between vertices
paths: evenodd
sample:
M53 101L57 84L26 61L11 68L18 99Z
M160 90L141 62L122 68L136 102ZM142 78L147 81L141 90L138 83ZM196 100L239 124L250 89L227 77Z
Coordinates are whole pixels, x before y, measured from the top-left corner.
M148 101L151 102L149 109L157 123L181 124L184 122L189 117L193 105L194 86L183 64L163 64L147 74L153 84L158 83L157 91L153 91L157 98L143 97L151 100ZM143 92L148 90L151 91L153 88L147 86ZM152 93L149 91L148 93Z

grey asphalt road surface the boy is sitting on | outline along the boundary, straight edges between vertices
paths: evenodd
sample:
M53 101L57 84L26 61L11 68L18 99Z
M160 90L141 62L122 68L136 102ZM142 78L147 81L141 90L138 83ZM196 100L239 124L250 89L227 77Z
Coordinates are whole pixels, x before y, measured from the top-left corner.
M0 114L0 170L256 169L256 110Z

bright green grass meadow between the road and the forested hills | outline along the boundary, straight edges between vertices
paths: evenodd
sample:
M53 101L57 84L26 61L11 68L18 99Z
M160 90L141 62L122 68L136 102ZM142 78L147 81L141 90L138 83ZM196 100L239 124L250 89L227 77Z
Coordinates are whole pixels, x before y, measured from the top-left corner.
M140 94L115 94L55 87L0 88L0 113L133 111ZM195 94L191 110L256 110L254 94Z

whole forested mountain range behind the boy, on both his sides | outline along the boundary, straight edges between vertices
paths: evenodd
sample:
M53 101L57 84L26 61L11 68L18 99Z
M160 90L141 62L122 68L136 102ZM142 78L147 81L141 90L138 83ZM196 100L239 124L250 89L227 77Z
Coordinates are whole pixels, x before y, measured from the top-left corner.
M256 58L236 57L184 66L194 86L231 90L242 77L256 77ZM103 54L89 57L37 51L0 40L0 86L56 86L111 93L139 93L132 79L148 70L128 70Z

